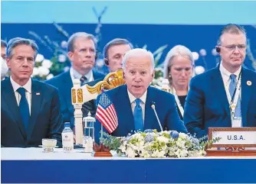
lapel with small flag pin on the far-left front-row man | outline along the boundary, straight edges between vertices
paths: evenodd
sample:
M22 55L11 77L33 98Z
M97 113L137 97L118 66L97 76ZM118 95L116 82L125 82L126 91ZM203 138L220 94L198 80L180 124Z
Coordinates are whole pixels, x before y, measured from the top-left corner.
M39 82L32 79L31 86L31 116L28 124L28 137L31 136L34 130L34 124L36 124L38 114L41 111L43 92L39 86Z

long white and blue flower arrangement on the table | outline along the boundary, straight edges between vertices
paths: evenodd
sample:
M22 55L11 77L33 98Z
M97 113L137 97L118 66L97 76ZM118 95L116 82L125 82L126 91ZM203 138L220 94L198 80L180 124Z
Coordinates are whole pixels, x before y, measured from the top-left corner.
M127 137L113 137L103 133L100 141L119 156L130 158L199 157L205 155L205 147L218 141L202 141L190 134L177 131L146 130L128 134Z

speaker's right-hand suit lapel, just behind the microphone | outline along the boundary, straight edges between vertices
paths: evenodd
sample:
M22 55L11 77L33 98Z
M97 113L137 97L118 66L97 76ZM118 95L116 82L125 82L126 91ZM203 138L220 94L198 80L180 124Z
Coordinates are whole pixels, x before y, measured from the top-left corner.
M152 129L153 124L156 123L156 115L151 108L152 102L155 102L155 94L151 90L151 87L149 86L146 94L146 104L145 104L145 118L144 118L144 130L146 129Z

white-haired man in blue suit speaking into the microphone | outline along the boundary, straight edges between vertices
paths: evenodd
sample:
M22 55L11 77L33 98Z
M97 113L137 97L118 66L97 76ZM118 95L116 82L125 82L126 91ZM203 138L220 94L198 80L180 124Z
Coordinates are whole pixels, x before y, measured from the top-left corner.
M162 130L187 132L180 120L174 96L153 87L149 87L154 78L153 54L147 50L134 49L126 53L123 59L123 73L126 85L107 91L110 101L117 111L118 126L113 136L126 136L133 131L156 129L161 131L153 104L159 116ZM101 95L98 96L97 102ZM98 111L98 109L97 109ZM97 115L96 115L97 117ZM95 124L95 137L99 141L100 121Z

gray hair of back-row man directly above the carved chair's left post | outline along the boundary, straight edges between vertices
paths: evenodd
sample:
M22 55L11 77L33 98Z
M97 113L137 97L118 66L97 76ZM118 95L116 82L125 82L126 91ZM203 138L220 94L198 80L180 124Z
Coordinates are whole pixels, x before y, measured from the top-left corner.
M93 40L95 48L97 48L96 39L93 34L87 34L86 32L77 32L71 35L67 40L67 52L74 52L74 42L77 38L84 37L88 40Z

